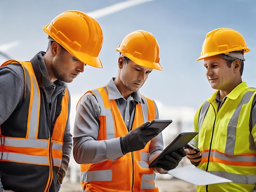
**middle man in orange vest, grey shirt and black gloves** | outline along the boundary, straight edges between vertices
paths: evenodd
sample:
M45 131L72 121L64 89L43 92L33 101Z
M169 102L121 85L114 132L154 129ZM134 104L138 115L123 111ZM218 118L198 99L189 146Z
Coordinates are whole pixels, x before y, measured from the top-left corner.
M81 185L90 192L158 192L155 171L168 172L184 156L184 150L173 152L148 167L162 152L163 138L158 127L146 128L159 114L139 89L153 69L162 70L159 45L151 33L138 30L116 50L117 76L85 93L77 105L73 153L81 164Z

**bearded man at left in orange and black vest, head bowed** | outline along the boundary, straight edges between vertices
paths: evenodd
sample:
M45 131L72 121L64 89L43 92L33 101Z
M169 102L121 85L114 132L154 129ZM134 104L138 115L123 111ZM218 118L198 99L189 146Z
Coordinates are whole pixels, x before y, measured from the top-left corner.
M43 31L46 52L0 67L1 192L59 191L72 150L67 83L85 64L102 68L103 35L93 18L65 11Z

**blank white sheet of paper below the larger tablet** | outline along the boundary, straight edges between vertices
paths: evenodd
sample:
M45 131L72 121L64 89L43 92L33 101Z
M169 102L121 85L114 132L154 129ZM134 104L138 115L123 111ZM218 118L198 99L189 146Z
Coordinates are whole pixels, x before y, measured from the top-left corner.
M211 174L204 170L200 170L194 165L186 165L184 167L176 167L168 171L168 174L194 185L211 185L215 183L233 182L229 179Z

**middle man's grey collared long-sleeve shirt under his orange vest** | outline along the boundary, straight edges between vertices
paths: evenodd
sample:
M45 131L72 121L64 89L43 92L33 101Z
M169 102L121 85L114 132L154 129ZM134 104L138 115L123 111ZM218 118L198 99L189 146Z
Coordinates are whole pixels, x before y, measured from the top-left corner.
M139 92L134 92L127 100L118 91L114 78L108 85L109 100L116 100L120 113L122 114L128 130L132 126L134 109L136 103L141 103ZM155 102L154 102L155 103ZM77 105L74 122L74 159L77 163L99 163L108 159L114 161L124 154L121 151L120 138L97 141L99 135L99 104L94 95L85 94ZM155 118L159 118L158 109L155 104ZM163 150L162 133L153 138L149 147L149 159ZM158 170L159 172L159 170Z

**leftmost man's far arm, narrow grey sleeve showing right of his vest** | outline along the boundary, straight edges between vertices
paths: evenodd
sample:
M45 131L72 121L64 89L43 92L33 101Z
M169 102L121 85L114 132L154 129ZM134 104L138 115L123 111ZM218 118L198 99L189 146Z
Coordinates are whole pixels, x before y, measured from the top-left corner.
M69 102L68 102L68 117L67 117L67 123L65 127L65 132L63 136L63 147L62 147L62 161L61 161L61 167L58 172L58 181L59 185L61 185L64 176L67 171L67 166L70 161L70 153L72 151L72 134L70 133L70 92L68 90L68 96L69 96Z

